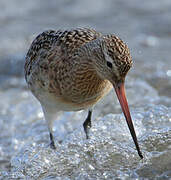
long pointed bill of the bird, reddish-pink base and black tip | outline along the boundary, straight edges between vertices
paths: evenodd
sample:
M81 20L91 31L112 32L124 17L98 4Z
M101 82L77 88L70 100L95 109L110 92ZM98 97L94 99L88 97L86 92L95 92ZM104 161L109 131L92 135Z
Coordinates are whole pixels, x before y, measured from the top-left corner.
M138 151L138 155L142 159L143 155L142 155L142 153L140 151L140 148L139 148L139 145L138 145L137 136L136 136L136 133L135 133L135 130L134 130L134 125L132 123L131 115L130 115L130 112L129 112L128 102L127 102L127 99L126 99L126 96L125 96L124 83L120 83L118 85L115 85L114 88L115 88L117 97L119 99L120 105L122 107L122 111L123 111L123 113L125 115L126 122L128 124L131 136L132 136L132 138L134 140L136 149Z

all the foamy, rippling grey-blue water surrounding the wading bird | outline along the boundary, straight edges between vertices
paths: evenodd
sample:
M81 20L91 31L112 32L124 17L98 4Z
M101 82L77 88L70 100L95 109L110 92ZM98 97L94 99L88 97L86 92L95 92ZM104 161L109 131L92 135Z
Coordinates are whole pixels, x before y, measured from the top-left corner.
M170 0L0 1L0 179L170 179L170 19ZM90 140L82 128L87 112L65 112L54 123L57 150L48 146L24 56L39 32L78 26L115 33L130 47L126 93L144 160L114 91L95 107Z

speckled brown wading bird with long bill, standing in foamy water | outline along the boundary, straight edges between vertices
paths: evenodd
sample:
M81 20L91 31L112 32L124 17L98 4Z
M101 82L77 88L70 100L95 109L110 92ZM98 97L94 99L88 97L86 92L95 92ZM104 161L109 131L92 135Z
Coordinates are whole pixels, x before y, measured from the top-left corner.
M35 38L26 56L25 78L42 106L52 148L52 124L58 112L88 109L83 127L89 138L92 107L113 87L143 158L125 96L124 82L131 66L128 46L112 34L77 28L48 30Z

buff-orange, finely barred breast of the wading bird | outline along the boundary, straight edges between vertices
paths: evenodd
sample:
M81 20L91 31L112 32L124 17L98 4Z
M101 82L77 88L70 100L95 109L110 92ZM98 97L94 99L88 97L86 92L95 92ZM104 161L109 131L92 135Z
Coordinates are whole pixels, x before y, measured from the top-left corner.
M85 109L94 105L112 88L108 80L100 79L96 72L86 65L67 66L66 62L62 64L65 64L65 67L58 65L56 71L50 71L48 86L48 92L58 98L60 103Z

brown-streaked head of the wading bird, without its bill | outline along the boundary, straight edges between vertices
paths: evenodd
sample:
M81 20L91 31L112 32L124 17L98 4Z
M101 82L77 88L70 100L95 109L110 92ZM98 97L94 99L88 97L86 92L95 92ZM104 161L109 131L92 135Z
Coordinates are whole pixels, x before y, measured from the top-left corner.
M132 66L128 46L114 35L106 35L100 39L101 57L96 61L96 71L102 79L109 80L114 86L124 82L125 76ZM96 55L98 51L94 51ZM99 55L98 55L99 56Z

